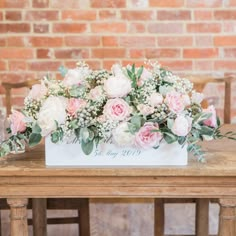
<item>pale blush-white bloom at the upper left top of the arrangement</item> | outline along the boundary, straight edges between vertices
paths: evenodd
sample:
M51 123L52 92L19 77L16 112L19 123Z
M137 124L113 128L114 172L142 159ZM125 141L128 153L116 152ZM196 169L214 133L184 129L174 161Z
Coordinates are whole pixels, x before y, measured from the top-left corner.
M85 79L89 76L90 73L91 70L88 67L81 67L68 70L62 83L66 87L84 84Z

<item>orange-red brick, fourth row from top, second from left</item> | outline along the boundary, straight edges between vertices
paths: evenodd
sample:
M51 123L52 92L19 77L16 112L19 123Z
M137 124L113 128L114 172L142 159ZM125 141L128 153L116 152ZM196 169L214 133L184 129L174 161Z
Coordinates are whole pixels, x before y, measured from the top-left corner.
M62 37L32 37L30 39L34 47L61 47L63 45Z

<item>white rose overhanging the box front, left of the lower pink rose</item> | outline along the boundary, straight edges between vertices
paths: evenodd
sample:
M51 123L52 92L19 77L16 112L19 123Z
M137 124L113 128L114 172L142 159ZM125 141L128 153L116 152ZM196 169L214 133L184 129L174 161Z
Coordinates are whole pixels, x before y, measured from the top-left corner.
M120 147L132 146L135 136L129 132L128 123L119 124L112 132L113 141Z

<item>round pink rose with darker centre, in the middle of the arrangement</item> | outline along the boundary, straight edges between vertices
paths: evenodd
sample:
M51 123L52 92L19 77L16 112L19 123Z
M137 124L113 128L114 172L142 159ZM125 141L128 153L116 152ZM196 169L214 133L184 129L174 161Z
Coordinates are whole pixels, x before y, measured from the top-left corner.
M103 113L108 119L125 120L130 116L131 108L129 104L120 98L114 98L107 101Z

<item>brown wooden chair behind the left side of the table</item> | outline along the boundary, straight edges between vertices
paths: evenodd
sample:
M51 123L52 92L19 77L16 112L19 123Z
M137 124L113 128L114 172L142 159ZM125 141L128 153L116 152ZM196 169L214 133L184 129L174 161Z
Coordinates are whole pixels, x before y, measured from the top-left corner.
M6 113L11 113L12 107L12 89L31 88L39 80L28 80L21 83L2 83L5 88ZM32 219L28 219L28 225L33 225L34 236L46 236L47 224L78 224L78 235L89 236L89 199L30 199L29 209L32 209ZM0 200L0 209L9 209L5 200ZM78 211L75 217L66 218L47 218L46 209L67 210L73 209ZM1 217L1 216L0 216ZM1 236L1 218L0 218L0 236Z

